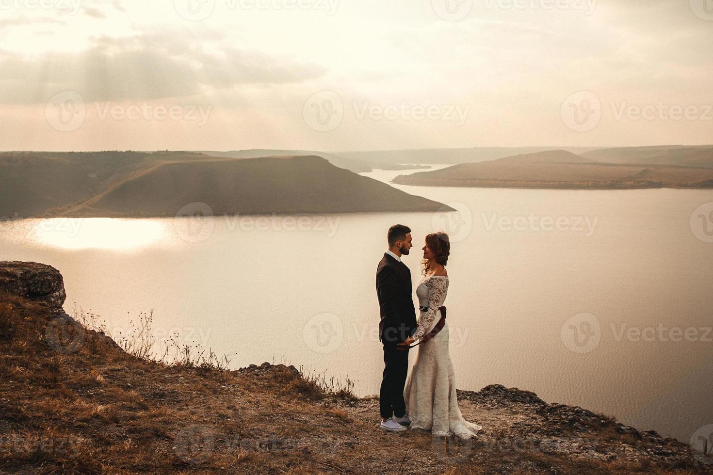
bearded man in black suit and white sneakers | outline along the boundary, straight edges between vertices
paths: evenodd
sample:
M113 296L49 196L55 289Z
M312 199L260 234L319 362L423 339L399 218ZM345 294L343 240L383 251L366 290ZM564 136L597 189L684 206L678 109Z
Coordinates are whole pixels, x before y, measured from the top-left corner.
M401 256L411 249L411 229L394 224L387 234L389 250L376 270L376 296L381 321L379 341L384 345L384 377L381 380L379 409L381 429L405 430L409 423L404 402L404 385L409 371L409 343L416 331L416 308L411 296L411 271ZM400 348L399 348L400 347Z

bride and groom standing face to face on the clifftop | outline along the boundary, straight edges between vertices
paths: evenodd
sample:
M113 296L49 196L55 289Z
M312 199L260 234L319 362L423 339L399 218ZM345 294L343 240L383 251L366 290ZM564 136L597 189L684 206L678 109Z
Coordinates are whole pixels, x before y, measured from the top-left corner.
M463 419L448 352L448 324L443 307L448 293L446 263L451 252L448 234L437 232L426 236L421 264L424 277L416 286L418 321L411 295L411 271L401 261L413 246L411 229L395 224L389 228L387 240L389 250L376 270L376 296L381 310L379 340L384 345L385 364L379 394L379 427L390 432L424 429L434 437L455 435L470 439L482 427ZM416 346L416 361L409 372L409 349Z

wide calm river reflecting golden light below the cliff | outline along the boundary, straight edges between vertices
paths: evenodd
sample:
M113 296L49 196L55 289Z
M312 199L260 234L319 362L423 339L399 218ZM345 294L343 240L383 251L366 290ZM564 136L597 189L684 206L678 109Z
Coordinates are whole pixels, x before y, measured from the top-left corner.
M458 212L5 220L0 260L58 268L68 313L115 338L153 310L155 348L173 337L371 395L386 229L413 229L414 288L443 229L459 389L519 387L684 442L713 423L713 192L396 187Z

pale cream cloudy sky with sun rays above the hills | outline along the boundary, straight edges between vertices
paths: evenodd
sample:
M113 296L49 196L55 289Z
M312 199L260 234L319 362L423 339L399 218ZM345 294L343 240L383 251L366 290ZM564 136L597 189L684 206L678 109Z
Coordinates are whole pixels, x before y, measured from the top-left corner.
M0 0L0 150L711 143L712 46L711 0Z

